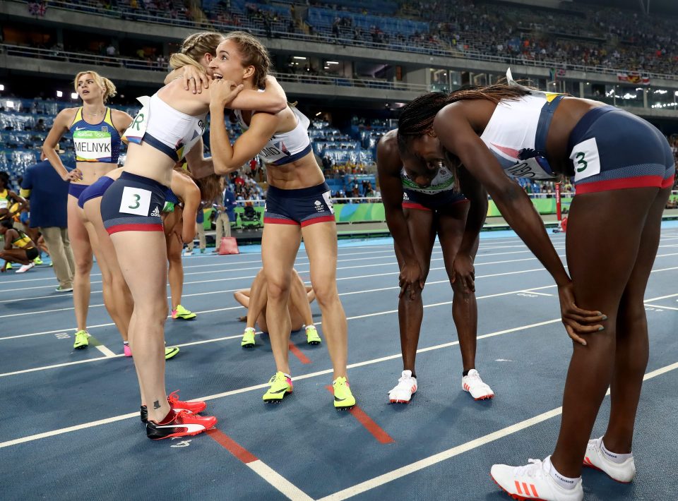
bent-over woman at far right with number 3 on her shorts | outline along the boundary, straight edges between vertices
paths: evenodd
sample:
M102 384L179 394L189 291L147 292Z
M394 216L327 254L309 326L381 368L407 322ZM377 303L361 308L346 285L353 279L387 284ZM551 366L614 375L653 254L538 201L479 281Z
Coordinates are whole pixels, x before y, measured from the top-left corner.
M516 85L424 95L403 109L398 144L412 159L408 165L417 183L432 179L438 162L465 169L480 181L554 277L574 346L557 445L543 464L495 465L492 476L511 495L521 495L522 483L533 484L545 499L581 500L578 477L585 455L619 481L631 481L635 473L632 459L622 476L621 466L606 466L599 460L602 442L589 438L614 381L605 447L614 454L631 453L648 361L643 295L675 165L666 139L650 123L600 102L549 97L542 93L541 108L526 115L525 110L535 110L538 96ZM550 107L553 102L559 102L557 109ZM496 121L501 134L492 130ZM504 139L507 143L500 143ZM577 194L566 233L571 280L528 196L504 174L499 157L513 164L536 159L525 172L548 165L552 173L574 176Z

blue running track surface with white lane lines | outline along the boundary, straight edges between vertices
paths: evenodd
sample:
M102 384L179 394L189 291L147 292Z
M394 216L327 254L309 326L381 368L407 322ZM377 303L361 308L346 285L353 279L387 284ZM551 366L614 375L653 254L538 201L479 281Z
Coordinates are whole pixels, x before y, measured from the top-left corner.
M564 236L552 239L564 255ZM206 397L220 419L220 434L189 440L145 438L133 363L121 356L96 266L88 325L101 349L73 351L72 296L54 292L48 267L0 277L0 499L504 500L489 467L552 452L559 414L544 413L561 405L571 346L551 277L512 233L482 234L476 262L477 368L496 397L474 402L460 389L452 291L436 244L424 289L420 388L407 406L389 405L387 395L401 370L392 241L340 242L352 390L388 443L355 414L333 409L326 346L308 346L301 332L292 342L310 363L290 356L295 392L277 406L261 402L275 366L266 334L253 350L239 345L244 308L232 292L249 287L261 267L258 247L242 250L184 260L182 303L198 318L167 321L167 344L182 349L167 363L167 388ZM309 278L303 248L296 268ZM585 471L587 500L677 497L677 277L678 224L665 223L646 294L650 363L634 442L638 475L622 485ZM315 303L313 310L319 322ZM609 397L595 436L608 412ZM516 423L523 429L506 429ZM249 455L224 447L228 440Z

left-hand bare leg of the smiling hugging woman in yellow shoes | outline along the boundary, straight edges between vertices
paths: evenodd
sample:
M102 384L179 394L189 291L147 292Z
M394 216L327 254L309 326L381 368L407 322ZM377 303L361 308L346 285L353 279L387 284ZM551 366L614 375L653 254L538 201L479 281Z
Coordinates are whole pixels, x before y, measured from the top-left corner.
M261 238L263 273L268 284L266 323L276 370L289 374L290 298L292 266L299 250L296 224L264 224ZM248 323L249 325L249 315Z

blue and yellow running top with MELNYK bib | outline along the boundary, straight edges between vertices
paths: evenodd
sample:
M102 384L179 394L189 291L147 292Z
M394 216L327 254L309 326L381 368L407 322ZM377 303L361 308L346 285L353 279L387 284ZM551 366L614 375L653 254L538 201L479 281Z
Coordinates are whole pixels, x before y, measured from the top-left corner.
M78 108L71 123L71 134L77 162L118 163L120 134L113 125L110 108L106 109L104 119L96 124L86 122L83 119L83 109Z

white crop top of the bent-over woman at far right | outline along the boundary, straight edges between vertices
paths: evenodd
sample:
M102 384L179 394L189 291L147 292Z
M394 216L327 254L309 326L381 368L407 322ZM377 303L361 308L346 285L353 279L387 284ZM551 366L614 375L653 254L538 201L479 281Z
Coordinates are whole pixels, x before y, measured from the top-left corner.
M546 136L553 113L563 95L528 89L513 81L509 85L529 92L519 99L504 99L497 105L480 139L513 177L554 179L546 155Z

